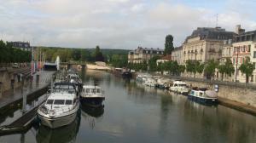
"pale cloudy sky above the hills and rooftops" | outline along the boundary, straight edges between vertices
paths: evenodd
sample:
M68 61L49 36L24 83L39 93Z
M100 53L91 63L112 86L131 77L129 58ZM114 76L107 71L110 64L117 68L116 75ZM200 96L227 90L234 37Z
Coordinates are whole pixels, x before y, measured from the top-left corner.
M164 49L197 27L256 30L256 0L0 0L0 39L32 45ZM254 10L254 11L253 11ZM217 20L218 15L218 20ZM218 22L217 22L218 21Z

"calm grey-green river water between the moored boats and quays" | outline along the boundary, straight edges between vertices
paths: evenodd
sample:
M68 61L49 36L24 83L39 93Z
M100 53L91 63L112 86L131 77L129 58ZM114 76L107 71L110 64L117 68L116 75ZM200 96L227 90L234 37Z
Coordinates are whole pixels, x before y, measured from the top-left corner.
M104 106L82 106L61 129L35 124L2 142L256 142L256 117L225 106L203 106L181 94L144 87L108 72L86 71L84 83L104 89ZM13 110L19 112L19 109ZM8 113L11 120L19 113Z

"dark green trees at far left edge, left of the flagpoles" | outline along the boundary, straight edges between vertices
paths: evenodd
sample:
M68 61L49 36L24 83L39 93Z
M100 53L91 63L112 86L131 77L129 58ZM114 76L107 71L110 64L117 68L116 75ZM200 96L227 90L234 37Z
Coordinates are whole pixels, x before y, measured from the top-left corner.
M0 40L0 51L0 63L31 61L30 51L15 49L10 43L4 43L3 40Z

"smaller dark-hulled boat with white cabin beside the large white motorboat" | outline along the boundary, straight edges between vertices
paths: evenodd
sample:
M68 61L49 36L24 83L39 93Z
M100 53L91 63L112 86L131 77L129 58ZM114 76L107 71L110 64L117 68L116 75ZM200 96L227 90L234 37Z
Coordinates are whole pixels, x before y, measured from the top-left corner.
M80 94L82 104L90 106L102 106L105 96L102 94L102 88L94 85L84 85Z

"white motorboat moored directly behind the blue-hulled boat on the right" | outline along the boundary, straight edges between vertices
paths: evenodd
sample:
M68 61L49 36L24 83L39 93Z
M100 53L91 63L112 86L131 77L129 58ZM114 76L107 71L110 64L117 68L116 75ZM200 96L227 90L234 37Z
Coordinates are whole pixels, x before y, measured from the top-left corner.
M173 82L172 86L170 87L170 90L180 94L188 94L190 91L187 84L179 80Z

